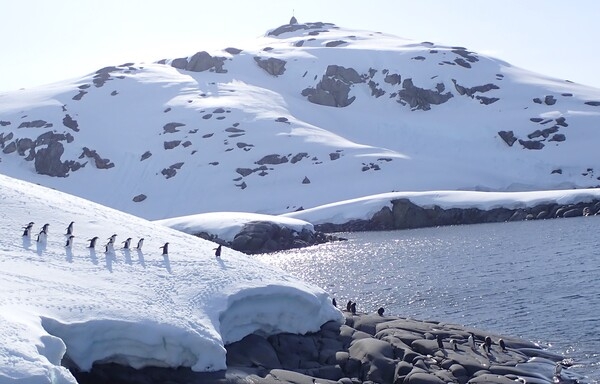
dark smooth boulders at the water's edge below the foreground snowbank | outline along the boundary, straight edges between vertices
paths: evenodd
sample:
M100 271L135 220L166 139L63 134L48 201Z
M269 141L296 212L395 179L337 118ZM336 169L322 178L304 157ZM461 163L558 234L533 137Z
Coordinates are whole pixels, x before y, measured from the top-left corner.
M344 324L328 322L307 335L246 336L226 346L226 371L97 364L91 372L72 372L80 384L585 382L566 370L568 360L519 338L379 313L344 316Z

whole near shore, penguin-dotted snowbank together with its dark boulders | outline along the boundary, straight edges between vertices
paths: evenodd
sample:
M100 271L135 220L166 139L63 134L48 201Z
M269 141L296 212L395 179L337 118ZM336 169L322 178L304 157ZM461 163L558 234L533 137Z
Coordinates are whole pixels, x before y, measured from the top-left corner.
M551 382L563 363L531 342L458 325L343 316L322 289L234 250L216 257L215 243L3 175L0 201L2 383L73 384L98 374L131 382ZM236 215L218 221L205 227L223 238L239 226ZM168 370L180 367L188 370Z

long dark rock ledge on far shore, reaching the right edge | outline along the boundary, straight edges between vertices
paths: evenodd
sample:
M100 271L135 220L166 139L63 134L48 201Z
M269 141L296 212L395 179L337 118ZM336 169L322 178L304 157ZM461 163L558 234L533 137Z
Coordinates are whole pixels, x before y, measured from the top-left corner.
M557 172L558 173L558 172ZM315 230L332 232L378 231L437 227L443 225L499 223L507 221L538 220L600 214L600 200L577 204L540 204L527 208L449 208L439 206L423 208L409 199L391 201L369 220L353 220L344 224L318 224ZM568 212L568 214L567 214Z

